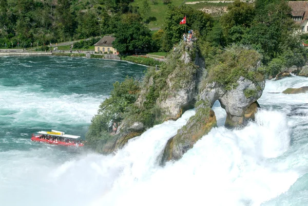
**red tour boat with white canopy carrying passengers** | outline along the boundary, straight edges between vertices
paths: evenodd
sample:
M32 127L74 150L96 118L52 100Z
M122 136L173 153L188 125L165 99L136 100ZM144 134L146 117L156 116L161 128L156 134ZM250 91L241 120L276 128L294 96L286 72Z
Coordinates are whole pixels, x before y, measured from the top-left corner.
M41 131L37 134L32 134L31 140L34 142L44 142L62 146L84 146L83 141L78 140L80 136L66 135L64 132L51 130L51 132Z

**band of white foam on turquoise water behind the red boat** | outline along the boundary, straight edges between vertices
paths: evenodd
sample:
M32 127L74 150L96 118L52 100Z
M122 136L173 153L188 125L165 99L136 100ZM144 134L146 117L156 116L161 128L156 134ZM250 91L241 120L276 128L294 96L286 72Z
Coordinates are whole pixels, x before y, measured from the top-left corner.
M90 123L100 103L107 98L107 96L92 97L75 93L60 96L54 92L31 91L39 87L37 85L23 85L12 89L1 87L3 86L0 86L0 115L1 111L3 113L5 110L11 111L11 114L5 117L12 118L12 123L16 125L20 123L35 125L33 122ZM31 88L26 92L27 87Z

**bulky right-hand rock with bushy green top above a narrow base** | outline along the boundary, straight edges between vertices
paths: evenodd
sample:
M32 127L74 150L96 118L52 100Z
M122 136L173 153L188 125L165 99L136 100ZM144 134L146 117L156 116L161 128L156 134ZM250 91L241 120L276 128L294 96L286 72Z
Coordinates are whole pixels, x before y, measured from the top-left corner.
M265 78L258 71L261 55L253 49L235 47L227 50L221 59L222 62L209 68L203 76L200 99L208 100L210 107L219 100L227 113L225 126L243 125L247 122L246 110L253 107L265 87Z

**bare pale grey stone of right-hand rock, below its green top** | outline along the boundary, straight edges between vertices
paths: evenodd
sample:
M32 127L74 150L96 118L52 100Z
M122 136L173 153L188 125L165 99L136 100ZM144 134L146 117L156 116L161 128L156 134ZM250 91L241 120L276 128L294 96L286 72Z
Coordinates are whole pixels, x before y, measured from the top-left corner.
M238 86L235 89L226 90L223 85L212 82L207 84L200 93L200 99L208 100L210 107L216 100L219 100L221 107L226 110L225 126L228 127L242 125L246 122L247 108L261 97L265 87L265 80L254 83L240 77L237 83Z

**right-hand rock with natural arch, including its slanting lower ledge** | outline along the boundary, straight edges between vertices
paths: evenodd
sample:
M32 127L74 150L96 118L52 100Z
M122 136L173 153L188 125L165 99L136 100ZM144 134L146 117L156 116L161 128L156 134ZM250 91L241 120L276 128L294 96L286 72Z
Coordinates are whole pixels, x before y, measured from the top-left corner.
M164 148L161 164L180 159L188 149L216 126L214 102L226 110L225 126L244 125L254 119L265 79L258 71L261 55L255 50L235 47L226 50L220 62L208 68L200 84L196 115L178 130Z

